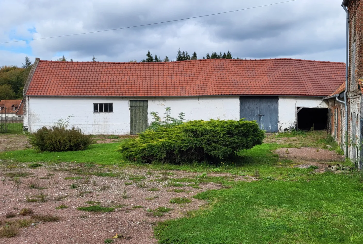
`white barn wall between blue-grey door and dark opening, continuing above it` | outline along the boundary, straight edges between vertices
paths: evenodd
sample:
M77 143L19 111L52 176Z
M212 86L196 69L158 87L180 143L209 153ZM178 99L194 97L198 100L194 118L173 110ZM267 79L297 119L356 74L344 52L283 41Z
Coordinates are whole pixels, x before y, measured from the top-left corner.
M278 99L278 128L280 132L291 131L296 127L296 108L328 108L321 97L284 97Z

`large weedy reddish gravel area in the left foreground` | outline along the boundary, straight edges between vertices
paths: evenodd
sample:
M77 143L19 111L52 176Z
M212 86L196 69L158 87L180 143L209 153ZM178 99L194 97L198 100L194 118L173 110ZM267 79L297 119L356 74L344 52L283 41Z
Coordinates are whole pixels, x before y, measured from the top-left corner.
M23 228L20 233L12 238L0 238L0 243L104 243L104 240L122 234L126 239L114 239L115 243L156 243L152 237L152 225L158 221L185 216L190 210L206 207L206 202L193 199L192 196L198 192L208 189L221 189L221 184L205 183L199 184L200 189L192 188L193 183L183 183L183 187L163 187L167 181L158 182L162 177L181 178L195 177L197 173L185 171L147 171L146 169L118 169L107 168L107 172L120 173L118 177L99 177L90 175L75 175L61 169L71 169L70 165L43 166L39 168L14 168L2 169L4 179L0 183L0 221L3 223L9 220L22 219L17 215L12 219L6 219L9 212L18 212L19 209L30 208L34 214L49 214L60 217L59 222L35 223L31 227ZM10 169L9 169L10 168ZM80 168L80 167L79 167ZM84 169L85 167L83 167ZM95 169L96 172L105 172L105 169ZM88 173L93 172L87 170ZM30 173L28 178L20 177L21 183L16 184L14 178L8 173ZM151 175L152 174L152 175ZM144 176L139 182L132 182L129 177L136 175ZM65 179L65 177L79 176L82 179ZM208 176L231 177L232 180L256 180L253 177L234 177L225 173L209 174ZM43 179L40 179L43 178ZM132 183L125 185L125 183ZM38 189L30 189L29 185L35 184ZM75 184L77 188L71 189ZM188 186L189 185L189 186ZM41 188L45 189L41 189ZM40 188L40 189L39 189ZM159 191L148 191L151 188L158 188ZM176 193L174 189L181 189L185 192ZM46 202L27 202L29 199L36 199L37 195L46 195ZM157 197L156 197L157 196ZM128 197L128 198L127 198ZM146 198L156 197L147 200ZM170 199L174 197L187 197L191 203L171 204ZM114 212L93 213L79 211L77 207L90 206L86 201L99 201L101 206L115 207ZM55 208L61 204L68 208ZM142 206L143 208L133 208ZM158 207L172 208L164 216L155 217L147 209ZM29 218L29 217L26 217Z

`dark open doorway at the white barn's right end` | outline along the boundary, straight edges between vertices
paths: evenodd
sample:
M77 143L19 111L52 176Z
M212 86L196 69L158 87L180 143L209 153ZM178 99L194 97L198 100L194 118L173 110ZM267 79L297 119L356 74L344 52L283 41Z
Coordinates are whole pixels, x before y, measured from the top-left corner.
M297 111L298 129L303 131L309 131L311 128L315 131L326 129L327 108L297 108Z

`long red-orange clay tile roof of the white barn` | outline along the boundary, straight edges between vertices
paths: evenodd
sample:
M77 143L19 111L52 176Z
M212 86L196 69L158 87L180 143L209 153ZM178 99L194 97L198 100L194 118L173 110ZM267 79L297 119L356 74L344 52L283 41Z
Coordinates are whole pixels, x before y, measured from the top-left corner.
M327 96L345 64L297 59L205 59L167 63L40 60L28 96Z

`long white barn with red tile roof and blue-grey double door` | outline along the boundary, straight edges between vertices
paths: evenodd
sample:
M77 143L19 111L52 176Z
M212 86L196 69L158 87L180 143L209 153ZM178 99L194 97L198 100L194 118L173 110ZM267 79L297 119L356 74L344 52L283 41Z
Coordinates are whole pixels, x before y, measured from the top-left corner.
M36 59L24 87L24 128L35 132L72 115L88 134L135 134L151 111L186 120L246 118L267 132L326 128L323 97L344 81L345 64L207 59L166 63Z

